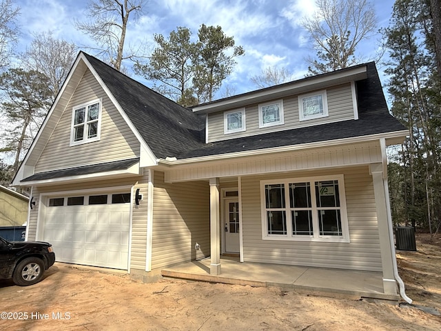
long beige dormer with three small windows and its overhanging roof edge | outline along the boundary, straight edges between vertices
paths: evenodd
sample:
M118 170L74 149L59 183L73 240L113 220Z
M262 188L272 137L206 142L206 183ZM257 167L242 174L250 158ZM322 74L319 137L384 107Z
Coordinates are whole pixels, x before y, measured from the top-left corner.
M307 77L193 108L206 114L205 142L358 119L356 81L367 65Z

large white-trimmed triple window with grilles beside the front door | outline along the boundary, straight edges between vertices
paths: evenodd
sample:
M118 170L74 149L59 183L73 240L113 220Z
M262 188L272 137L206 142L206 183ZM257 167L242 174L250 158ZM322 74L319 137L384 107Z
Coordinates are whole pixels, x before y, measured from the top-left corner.
M263 239L349 242L343 175L260 181Z

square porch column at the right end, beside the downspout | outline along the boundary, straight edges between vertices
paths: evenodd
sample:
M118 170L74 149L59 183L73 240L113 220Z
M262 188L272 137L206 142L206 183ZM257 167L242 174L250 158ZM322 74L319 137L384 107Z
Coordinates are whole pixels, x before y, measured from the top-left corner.
M393 260L389 226L387 222L387 195L384 192L383 165L374 163L369 166L373 179L373 194L377 210L378 232L380 235L380 253L383 270L383 290L385 294L397 294L396 281L393 275Z

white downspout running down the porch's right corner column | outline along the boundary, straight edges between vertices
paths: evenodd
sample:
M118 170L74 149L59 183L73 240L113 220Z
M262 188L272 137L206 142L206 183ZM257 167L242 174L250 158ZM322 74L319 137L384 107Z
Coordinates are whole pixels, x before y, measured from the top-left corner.
M386 197L386 209L387 209L387 226L389 228L389 241L391 242L392 252L392 267L393 275L398 282L400 288L400 295L407 303L412 303L412 299L407 297L406 289L404 288L404 282L402 281L400 274L398 274L398 265L396 259L395 245L393 245L393 228L392 228L392 214L391 214L391 202L389 200L389 184L387 182L387 156L386 156L386 139L380 139L381 154L383 157L383 183L384 183L384 196Z

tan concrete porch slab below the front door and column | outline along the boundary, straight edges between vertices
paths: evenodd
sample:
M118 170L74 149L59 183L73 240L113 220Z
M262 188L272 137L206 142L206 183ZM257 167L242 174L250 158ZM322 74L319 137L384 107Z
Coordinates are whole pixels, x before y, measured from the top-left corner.
M210 259L174 265L161 270L163 277L209 281L256 287L278 286L327 297L380 299L398 303L399 295L384 294L382 274L325 268L299 267L269 263L240 263L238 258L223 257L221 274L209 274Z

